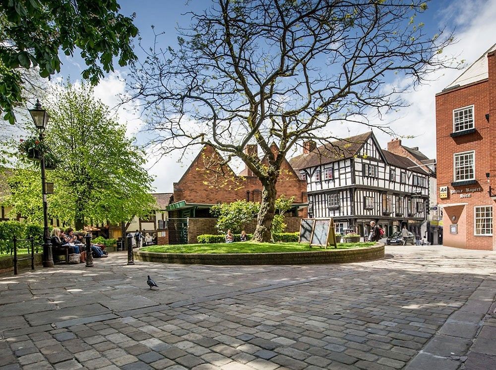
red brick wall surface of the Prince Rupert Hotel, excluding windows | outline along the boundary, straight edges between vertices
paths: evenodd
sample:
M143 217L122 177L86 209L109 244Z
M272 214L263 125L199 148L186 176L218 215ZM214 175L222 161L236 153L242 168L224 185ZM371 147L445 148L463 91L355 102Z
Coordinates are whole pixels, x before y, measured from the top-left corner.
M441 92L436 95L436 153L437 153L437 201L440 205L467 203L463 212L459 207L443 207L444 226L443 244L453 247L463 247L469 249L493 249L492 236L474 235L474 207L495 204L489 198L489 184L486 173L491 172L494 181L495 171L495 141L494 141L494 119L496 118L495 101L495 72L496 63L494 56L488 58L490 64L490 79L462 86L455 90ZM453 132L453 110L456 108L474 105L474 119L476 132L459 137L450 137ZM486 119L486 114L490 115L490 122ZM492 117L491 117L492 116ZM493 123L493 127L491 124ZM463 151L475 150L475 179L476 184L470 186L451 186L454 180L453 154ZM494 176L494 177L493 177ZM460 194L449 194L448 199L439 199L439 187L447 186L448 194L451 190L463 190L466 188L482 188L482 191L471 193L470 198L460 198ZM452 210L450 210L452 208ZM460 213L458 223L458 234L449 233L449 225L453 223L451 217ZM448 215L451 214L451 217ZM458 222L458 218L456 218ZM493 217L493 220L495 218ZM494 221L493 221L494 223Z

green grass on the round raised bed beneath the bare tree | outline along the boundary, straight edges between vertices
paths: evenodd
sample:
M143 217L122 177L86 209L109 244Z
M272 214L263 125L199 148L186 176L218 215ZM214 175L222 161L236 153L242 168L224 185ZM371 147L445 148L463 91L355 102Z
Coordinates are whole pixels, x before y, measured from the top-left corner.
M370 247L375 243L338 243L338 249ZM334 247L327 247L333 250ZM257 243L253 241L237 243L212 243L212 244L178 244L178 245L153 245L141 248L145 252L156 253L274 253L274 252L315 252L325 250L323 247L311 247L309 243Z

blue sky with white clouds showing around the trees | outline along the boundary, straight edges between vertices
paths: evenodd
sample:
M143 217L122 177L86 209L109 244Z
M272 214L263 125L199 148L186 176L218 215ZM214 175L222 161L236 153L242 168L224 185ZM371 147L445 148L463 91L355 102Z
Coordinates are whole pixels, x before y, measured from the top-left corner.
M187 11L199 11L207 7L209 0L121 0L122 13L130 15L136 13L135 25L139 29L142 45L150 47L153 44L151 25L157 33L164 32L160 37L160 46L174 46L176 43L176 26L189 24ZM455 30L458 42L445 52L466 60L468 64L474 62L491 45L496 43L496 0L433 0L429 2L429 10L419 15L418 21L426 24L427 34L434 35L444 25L448 30ZM137 47L135 52L142 58L143 53ZM74 81L80 78L81 63L79 57L66 59L63 57L62 73L60 76ZM108 105L115 106L118 102L117 94L125 93L124 79L127 69L116 69L115 74L106 76L96 88L97 95ZM385 117L391 122L391 127L398 136L414 135L415 138L403 140L409 147L420 147L429 157L435 157L435 115L434 95L454 80L461 71L440 71L433 75L434 81L427 83L417 91L411 92L404 98L410 103L408 108L392 113ZM126 108L126 109L124 109ZM136 135L138 140L143 138L139 128L143 124L133 106L122 107L119 112L120 121L128 126L129 135ZM343 127L343 137L356 135L368 131L364 126L347 125ZM383 148L391 137L376 132L379 143ZM198 148L199 150L199 148ZM149 172L156 176L155 188L158 192L172 192L172 183L177 182L189 165L189 159L196 155L192 150L190 157L178 163L178 156L157 158L150 156L148 161Z

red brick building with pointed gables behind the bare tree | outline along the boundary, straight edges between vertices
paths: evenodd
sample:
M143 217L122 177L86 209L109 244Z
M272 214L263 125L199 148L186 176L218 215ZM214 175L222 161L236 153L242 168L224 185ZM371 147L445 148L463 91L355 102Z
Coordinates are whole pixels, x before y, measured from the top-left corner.
M271 148L273 152L278 150L275 145ZM257 155L256 145L248 145L245 150ZM299 230L299 217L307 215L307 182L296 174L286 160L276 189L278 197L295 197L293 208L286 216L286 231ZM261 196L262 184L248 168L236 174L214 148L205 146L181 179L174 183L172 203L167 207L169 242L195 243L199 234L217 233L216 219L210 215L210 207L238 200L260 202ZM295 220L291 220L291 216ZM247 232L252 232L253 228L254 224L247 225Z

